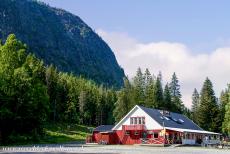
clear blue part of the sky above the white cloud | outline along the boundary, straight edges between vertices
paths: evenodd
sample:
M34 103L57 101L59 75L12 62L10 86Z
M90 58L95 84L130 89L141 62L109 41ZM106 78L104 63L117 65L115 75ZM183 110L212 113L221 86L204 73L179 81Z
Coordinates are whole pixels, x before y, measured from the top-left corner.
M93 29L142 42L182 42L193 52L229 43L228 0L43 0L80 16Z

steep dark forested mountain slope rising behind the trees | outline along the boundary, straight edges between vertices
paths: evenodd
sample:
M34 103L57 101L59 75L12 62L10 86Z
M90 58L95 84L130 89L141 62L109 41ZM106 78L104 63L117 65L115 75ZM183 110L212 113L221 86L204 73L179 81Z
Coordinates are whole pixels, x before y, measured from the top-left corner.
M78 16L32 0L1 0L0 38L10 33L58 70L121 87L124 71L110 47Z

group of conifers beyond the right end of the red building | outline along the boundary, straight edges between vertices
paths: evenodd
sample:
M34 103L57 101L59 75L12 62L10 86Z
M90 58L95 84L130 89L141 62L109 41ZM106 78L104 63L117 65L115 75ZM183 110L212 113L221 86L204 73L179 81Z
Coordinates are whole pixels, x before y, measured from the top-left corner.
M230 85L218 99L212 82L206 78L201 92L195 88L192 94L191 118L205 130L230 134Z

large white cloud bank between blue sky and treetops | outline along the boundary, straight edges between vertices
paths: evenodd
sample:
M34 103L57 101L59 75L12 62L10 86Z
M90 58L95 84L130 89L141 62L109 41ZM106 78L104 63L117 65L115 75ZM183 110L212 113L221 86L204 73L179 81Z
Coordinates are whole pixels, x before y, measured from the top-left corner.
M201 89L203 81L208 76L213 82L216 96L230 82L230 47L218 48L209 53L192 54L192 51L182 43L150 42L141 43L125 33L97 33L114 51L118 63L129 77L133 77L138 67L149 68L155 75L161 71L164 81L170 81L176 72L183 101L191 106L191 95L194 88Z

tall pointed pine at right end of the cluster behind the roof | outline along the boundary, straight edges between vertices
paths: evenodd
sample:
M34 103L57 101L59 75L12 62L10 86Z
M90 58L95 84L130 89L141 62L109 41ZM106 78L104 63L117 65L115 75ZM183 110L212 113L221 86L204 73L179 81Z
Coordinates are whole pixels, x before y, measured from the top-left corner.
M180 93L179 80L174 72L172 75L171 83L169 84L169 89L172 97L172 111L182 113L182 101Z

